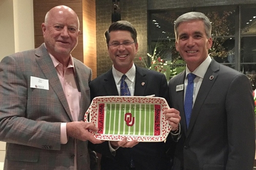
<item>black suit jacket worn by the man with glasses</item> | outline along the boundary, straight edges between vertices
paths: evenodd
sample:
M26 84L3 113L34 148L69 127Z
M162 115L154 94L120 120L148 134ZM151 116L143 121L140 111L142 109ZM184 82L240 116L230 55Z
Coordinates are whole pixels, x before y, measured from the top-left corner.
M145 83L144 86L141 85L142 82ZM91 99L96 96L118 95L112 69L91 81L89 86ZM134 95L146 96L152 94L165 98L167 102L169 101L165 76L157 71L136 66ZM131 157L133 157L136 169L166 169L167 160L164 142L140 142L133 148L119 148L115 157L109 152L108 141L92 147L93 150L102 154L101 169L127 169L131 165Z

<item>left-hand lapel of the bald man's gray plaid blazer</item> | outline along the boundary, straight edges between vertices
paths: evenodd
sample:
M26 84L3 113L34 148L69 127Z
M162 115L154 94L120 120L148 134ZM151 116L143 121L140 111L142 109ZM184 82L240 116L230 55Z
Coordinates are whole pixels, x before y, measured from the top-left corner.
M59 101L69 115L70 120L73 121L71 112L69 110L68 101L60 84L56 68L54 67L52 59L44 44L37 48L35 55L38 56L38 58L36 58L37 64L41 68L46 79L49 80L49 86L51 86L55 94L58 96Z

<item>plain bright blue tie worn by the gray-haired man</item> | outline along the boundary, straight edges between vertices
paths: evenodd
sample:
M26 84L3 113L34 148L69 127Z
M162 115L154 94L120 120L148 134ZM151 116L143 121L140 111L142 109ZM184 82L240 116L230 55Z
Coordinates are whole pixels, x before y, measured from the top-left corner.
M185 95L185 102L184 102L184 111L186 116L187 129L188 129L189 120L190 120L191 112L193 108L194 79L196 77L197 76L191 72L187 75L187 88L186 88L186 95Z

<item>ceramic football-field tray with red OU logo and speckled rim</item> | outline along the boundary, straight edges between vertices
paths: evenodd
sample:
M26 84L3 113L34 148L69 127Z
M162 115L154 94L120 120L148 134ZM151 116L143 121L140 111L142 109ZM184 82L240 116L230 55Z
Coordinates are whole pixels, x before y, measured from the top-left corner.
M100 140L163 141L172 129L162 114L169 108L164 98L102 96L94 98L84 115L99 128L91 133Z

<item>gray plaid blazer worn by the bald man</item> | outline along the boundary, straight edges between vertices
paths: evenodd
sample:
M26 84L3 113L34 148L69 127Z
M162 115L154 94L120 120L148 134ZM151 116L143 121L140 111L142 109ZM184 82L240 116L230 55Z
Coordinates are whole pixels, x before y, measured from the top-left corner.
M90 105L92 71L74 60L81 91L78 120ZM30 87L30 77L49 80L49 90ZM88 142L60 144L60 123L72 122L56 69L42 44L5 57L0 63L0 140L6 141L4 169L72 169L74 142L78 169L90 169Z

